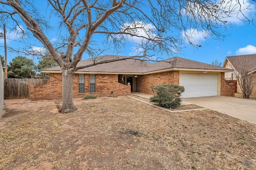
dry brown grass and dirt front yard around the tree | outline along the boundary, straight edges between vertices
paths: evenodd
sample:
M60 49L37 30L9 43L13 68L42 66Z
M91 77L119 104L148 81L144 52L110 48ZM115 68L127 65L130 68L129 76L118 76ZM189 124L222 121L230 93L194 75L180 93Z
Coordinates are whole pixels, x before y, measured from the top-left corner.
M5 100L1 170L254 170L256 125L204 109L170 113L131 98Z

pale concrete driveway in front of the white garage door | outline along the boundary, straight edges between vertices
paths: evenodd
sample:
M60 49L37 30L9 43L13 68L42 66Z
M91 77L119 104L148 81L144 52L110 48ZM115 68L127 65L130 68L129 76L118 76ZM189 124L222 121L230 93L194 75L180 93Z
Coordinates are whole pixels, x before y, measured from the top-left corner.
M256 124L256 100L226 96L183 98L182 101Z

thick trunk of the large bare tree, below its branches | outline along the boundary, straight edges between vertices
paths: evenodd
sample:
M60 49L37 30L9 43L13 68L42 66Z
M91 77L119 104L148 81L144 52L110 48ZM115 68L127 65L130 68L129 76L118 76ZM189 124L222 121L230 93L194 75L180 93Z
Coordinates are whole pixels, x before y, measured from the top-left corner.
M77 108L73 101L73 76L74 73L69 70L62 71L62 107L61 113L70 113Z

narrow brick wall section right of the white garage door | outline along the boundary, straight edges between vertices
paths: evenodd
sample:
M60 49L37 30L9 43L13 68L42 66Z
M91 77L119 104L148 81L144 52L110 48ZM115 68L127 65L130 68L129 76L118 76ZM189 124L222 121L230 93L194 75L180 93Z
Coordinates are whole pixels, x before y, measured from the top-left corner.
M234 84L225 82L225 73L220 73L220 96L235 96Z

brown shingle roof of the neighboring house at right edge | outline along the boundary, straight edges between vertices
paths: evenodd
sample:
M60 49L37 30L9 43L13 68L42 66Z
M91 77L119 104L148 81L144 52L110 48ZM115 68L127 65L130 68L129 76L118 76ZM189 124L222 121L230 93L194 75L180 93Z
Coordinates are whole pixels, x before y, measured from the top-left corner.
M248 68L248 71L252 71L256 69L256 54L251 55L237 55L226 57L228 61L237 68L239 66L245 66Z

